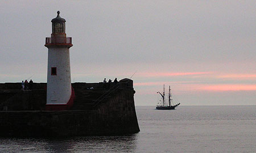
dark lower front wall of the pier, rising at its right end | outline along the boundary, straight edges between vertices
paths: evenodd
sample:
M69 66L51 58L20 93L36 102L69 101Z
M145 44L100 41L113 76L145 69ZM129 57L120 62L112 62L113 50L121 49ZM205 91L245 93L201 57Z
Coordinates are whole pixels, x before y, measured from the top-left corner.
M43 111L42 109L0 111L0 136L69 137L138 133L139 126L134 106L135 92L132 80L130 83L130 88L118 89L117 94L106 101L101 101L97 109L85 111ZM93 84L89 84L89 86L91 85ZM96 86L101 85L94 83L94 87ZM73 87L84 88L85 86L84 83L77 83Z

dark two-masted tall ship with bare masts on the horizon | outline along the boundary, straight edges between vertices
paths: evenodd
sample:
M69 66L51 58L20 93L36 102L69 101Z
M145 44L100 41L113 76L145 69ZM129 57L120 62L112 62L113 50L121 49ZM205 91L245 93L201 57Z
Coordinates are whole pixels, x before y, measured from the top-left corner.
M168 102L166 103L165 100L165 94L163 90L163 94L161 92L157 92L161 95L162 101L160 102L160 105L156 105L156 109L175 109L180 103L174 105L174 102L172 101L172 94L171 94L171 87L169 86L169 94L168 94Z

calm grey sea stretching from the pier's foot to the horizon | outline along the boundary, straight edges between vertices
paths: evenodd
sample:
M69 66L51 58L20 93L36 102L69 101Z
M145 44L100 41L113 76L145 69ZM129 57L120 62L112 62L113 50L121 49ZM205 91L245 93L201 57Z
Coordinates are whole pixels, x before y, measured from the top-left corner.
M256 152L256 105L136 109L138 134L0 138L0 152Z

